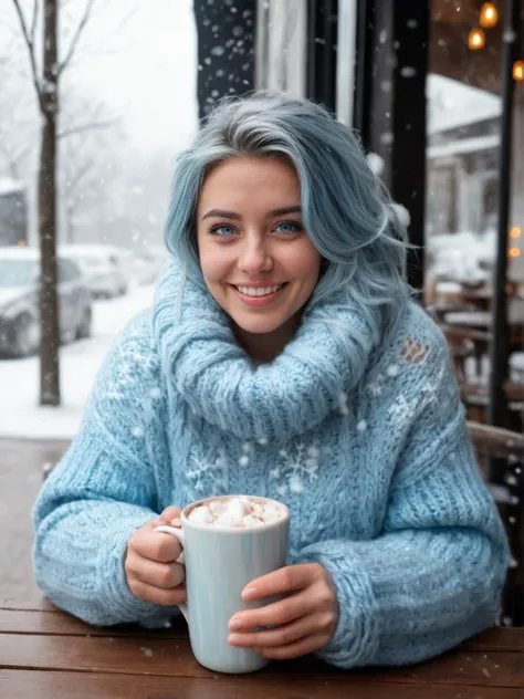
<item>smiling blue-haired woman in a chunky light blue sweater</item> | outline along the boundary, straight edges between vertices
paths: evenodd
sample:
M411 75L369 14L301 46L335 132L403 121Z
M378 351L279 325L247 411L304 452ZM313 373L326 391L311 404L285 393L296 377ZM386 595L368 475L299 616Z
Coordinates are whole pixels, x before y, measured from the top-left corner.
M319 106L259 93L211 115L176 168L172 265L35 505L55 604L165 624L184 566L154 528L243 492L289 505L291 549L244 591L284 601L237 614L232 645L395 665L494 623L506 542L446 342L409 298L405 234Z

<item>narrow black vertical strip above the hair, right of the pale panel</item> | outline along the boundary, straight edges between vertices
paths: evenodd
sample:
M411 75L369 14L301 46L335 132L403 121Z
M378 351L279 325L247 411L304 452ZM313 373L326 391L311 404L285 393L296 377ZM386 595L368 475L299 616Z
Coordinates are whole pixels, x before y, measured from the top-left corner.
M307 0L306 97L336 111L338 0Z

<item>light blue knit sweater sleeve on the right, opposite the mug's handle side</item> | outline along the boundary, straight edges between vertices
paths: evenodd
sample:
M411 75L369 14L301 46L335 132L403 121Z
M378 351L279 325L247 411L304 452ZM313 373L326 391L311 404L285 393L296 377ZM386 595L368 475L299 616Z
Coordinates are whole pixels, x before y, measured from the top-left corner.
M317 655L339 667L423 660L499 614L505 533L475 461L443 342L428 363L439 385L412 418L380 534L318 542L298 556L321 563L335 584L338 625Z

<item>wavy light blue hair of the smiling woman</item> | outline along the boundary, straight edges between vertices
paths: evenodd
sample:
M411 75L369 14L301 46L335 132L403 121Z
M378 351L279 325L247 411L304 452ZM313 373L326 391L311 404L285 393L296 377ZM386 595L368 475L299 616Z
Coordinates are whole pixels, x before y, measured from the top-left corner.
M307 100L265 91L227 98L179 156L165 239L189 279L203 284L196 234L203 179L235 156L281 157L294 167L305 230L324 259L310 304L342 291L384 338L411 293L406 226L357 136Z

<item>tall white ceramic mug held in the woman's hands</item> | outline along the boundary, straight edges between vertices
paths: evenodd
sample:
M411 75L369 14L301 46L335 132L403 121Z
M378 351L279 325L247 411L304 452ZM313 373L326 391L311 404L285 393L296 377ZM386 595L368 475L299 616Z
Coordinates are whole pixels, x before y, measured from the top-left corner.
M228 495L239 498L247 495ZM285 565L290 535L290 511L268 498L248 497L282 509L282 518L254 528L210 526L191 522L193 508L223 498L208 498L187 505L181 529L157 526L156 531L176 536L184 547L179 562L186 565L187 604L180 611L189 626L191 648L197 660L219 672L252 672L269 660L250 648L228 644L229 620L243 609L263 606L269 601L243 602L242 590L251 581Z

